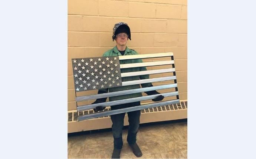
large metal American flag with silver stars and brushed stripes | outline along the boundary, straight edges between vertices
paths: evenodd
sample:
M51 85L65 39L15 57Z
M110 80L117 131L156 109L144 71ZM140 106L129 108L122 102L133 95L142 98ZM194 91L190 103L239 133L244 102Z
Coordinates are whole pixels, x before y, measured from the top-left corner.
M154 62L127 63L127 64L120 64L119 62L119 60L147 59L147 58L168 57L168 56L170 57L170 60L165 60L165 61L156 60ZM125 68L161 66L161 65L172 65L172 68L121 73L121 69L125 69ZM175 100L155 102L155 103L150 103L150 104L141 105L141 106L128 107L128 108L117 109L117 110L101 111L101 112L95 112L89 115L78 116L78 121L92 119L96 117L114 115L118 113L131 112L131 111L141 110L141 109L146 109L151 107L171 105L171 104L180 102L178 97L178 88L177 88L173 53L155 53L155 54L142 54L142 55L79 58L79 59L72 59L72 67L73 67L75 92L174 80L174 84L144 87L139 89L121 90L117 92L102 93L97 95L79 96L79 97L76 97L76 102L104 98L104 97L111 97L111 96L128 95L132 93L147 92L147 91L159 90L159 89L175 88L175 92L160 93L158 95L148 95L148 96L142 96L142 97L134 97L134 98L116 100L116 101L105 102L105 103L82 105L77 107L78 111L93 109L96 106L114 106L114 105L120 105L124 103L149 100L149 99L154 99L159 95L163 95L164 97L176 96ZM167 72L173 72L173 76L122 82L122 77L140 76L144 74L157 74L157 73L167 73Z

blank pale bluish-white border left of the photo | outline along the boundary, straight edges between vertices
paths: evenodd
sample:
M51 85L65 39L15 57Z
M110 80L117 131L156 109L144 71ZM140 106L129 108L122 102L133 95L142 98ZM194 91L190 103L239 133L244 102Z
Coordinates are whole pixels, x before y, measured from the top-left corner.
M68 158L67 6L0 4L0 158Z

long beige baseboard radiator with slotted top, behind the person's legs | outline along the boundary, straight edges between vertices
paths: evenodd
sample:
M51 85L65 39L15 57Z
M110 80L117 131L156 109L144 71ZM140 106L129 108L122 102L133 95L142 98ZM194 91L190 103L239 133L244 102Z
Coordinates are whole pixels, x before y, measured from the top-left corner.
M187 100L180 100L180 103L173 105L143 109L141 110L140 123L186 119L187 108ZM110 107L106 107L105 110L109 109ZM80 112L77 112L76 110L68 111L68 133L111 128L112 122L110 116L78 122L78 115L86 115L90 113L93 113L93 110L84 110ZM129 125L127 113L125 114L124 125Z

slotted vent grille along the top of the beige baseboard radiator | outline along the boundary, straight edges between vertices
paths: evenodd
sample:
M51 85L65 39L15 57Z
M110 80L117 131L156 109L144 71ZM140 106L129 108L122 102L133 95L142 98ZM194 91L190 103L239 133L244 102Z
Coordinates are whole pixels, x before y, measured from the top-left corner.
M165 105L165 106L158 106L158 107L151 107L147 109L142 109L141 113L151 113L151 112L161 112L161 111L171 111L171 110L180 110L180 109L187 109L187 101L180 102L173 105ZM68 113L68 122L78 121L78 115L88 115L92 113L100 113L110 111L110 108L105 108L99 112L94 112L93 110L83 110L79 112L69 112ZM127 115L127 113L125 113ZM102 117L110 117L110 116L102 116ZM99 117L99 118L102 118ZM74 119L73 119L74 118ZM90 120L90 119L89 119Z

